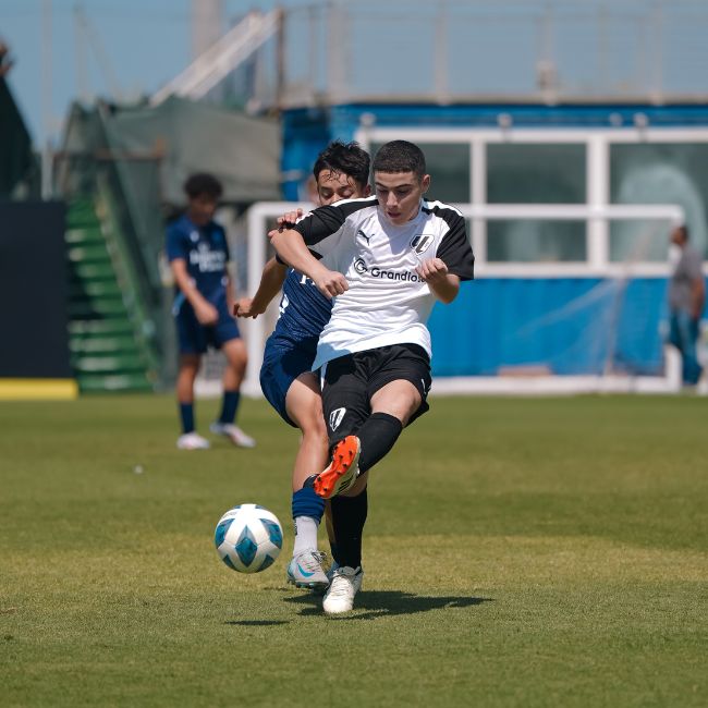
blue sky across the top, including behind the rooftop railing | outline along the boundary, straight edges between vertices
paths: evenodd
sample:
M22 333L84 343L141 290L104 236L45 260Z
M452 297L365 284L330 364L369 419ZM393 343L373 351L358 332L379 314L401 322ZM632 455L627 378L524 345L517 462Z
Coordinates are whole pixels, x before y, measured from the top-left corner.
M227 22L253 9L302 9L324 2L221 0ZM542 28L537 36L528 32L529 22L541 15L529 21L528 13L542 13L549 7L554 8L557 26L563 28L549 47L576 87L591 88L606 72L620 90L624 85L642 90L660 76L669 90L708 94L706 0L356 0L350 4L358 9L362 20L350 23L341 37L356 45L350 51L354 57L347 57L346 78L351 84L368 84L383 95L390 95L388 87L395 84L392 71L400 76L399 66L405 69L406 64L408 74L418 81L416 87L425 82L428 88L436 86L435 20L441 8L457 13L452 23L456 26L449 28L447 37L451 83L461 86L467 82L468 95L489 93L500 85L517 93L527 90L536 81L538 38L542 38ZM413 5L417 8L415 17L410 11ZM637 9L644 12L640 21L632 14ZM613 13L614 20L600 36L603 12ZM306 22L304 11L297 16ZM103 97L132 101L152 94L179 74L192 60L191 19L191 0L0 0L0 40L10 46L14 59L8 83L35 146L47 141L58 144L73 100L90 102ZM656 41L655 19L662 24L662 42ZM412 41L422 49L412 53ZM374 46L376 52L370 49ZM600 46L606 51L598 59L593 51ZM362 47L368 54L364 59L355 54ZM308 50L301 53L307 57ZM379 64L390 63L391 56L404 57L403 63L399 59L396 65L381 70ZM416 57L418 64L414 65ZM328 62L331 52L321 52L313 71L326 74ZM307 71L307 59L303 66Z

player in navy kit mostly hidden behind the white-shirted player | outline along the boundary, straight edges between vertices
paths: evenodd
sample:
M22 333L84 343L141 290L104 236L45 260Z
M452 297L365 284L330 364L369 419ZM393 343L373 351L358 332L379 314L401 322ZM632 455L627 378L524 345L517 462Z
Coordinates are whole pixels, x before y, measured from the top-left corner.
M369 162L369 156L356 143L331 143L320 152L313 169L319 204L325 206L368 196ZM292 224L298 216L291 212L279 221ZM263 314L281 286L280 315L266 342L260 386L282 419L303 434L292 475L295 546L288 579L297 587L324 589L329 578L322 569L325 556L317 548L317 529L325 512L325 500L312 487L303 487L303 483L329 459L319 380L310 369L332 303L312 280L273 258L266 264L254 297L236 303L237 316ZM328 530L337 562L335 541L331 528Z

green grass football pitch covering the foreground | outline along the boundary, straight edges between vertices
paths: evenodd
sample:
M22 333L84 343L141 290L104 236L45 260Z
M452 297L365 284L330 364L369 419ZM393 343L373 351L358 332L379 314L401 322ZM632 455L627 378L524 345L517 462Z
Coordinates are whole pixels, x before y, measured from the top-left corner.
M295 432L246 401L258 448L182 452L174 408L0 404L3 708L708 705L705 400L434 399L341 618L284 582ZM247 501L286 536L255 576L212 542Z

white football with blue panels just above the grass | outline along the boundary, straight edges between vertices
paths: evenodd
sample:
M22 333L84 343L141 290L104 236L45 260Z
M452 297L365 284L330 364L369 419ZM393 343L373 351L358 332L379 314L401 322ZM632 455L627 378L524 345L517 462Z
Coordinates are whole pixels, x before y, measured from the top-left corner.
M278 558L283 547L283 529L278 516L264 506L240 504L219 520L213 542L230 569L260 573Z

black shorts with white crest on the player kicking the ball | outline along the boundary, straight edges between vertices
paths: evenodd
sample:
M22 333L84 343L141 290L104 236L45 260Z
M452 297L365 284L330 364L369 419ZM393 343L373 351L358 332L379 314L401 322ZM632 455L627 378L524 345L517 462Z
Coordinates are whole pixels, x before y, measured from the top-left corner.
M391 381L411 381L420 405L407 425L429 408L430 358L417 344L392 344L328 362L322 381L322 410L330 444L356 435L371 415L371 396Z

